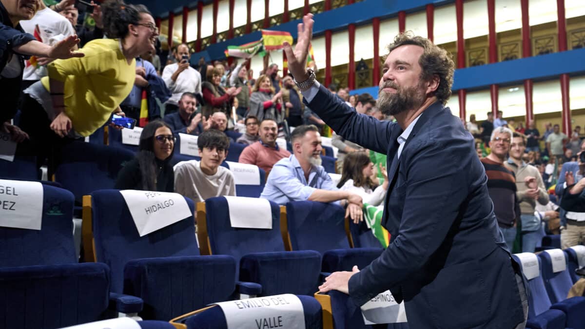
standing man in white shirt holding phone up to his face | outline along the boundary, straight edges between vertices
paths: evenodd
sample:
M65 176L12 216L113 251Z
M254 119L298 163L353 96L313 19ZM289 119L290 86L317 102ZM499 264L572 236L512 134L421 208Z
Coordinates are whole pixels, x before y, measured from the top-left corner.
M201 95L201 74L189 66L191 53L189 46L181 43L177 46L175 58L177 63L168 64L163 70L163 80L167 88L173 93L165 104L164 114L177 112L178 101L184 92Z

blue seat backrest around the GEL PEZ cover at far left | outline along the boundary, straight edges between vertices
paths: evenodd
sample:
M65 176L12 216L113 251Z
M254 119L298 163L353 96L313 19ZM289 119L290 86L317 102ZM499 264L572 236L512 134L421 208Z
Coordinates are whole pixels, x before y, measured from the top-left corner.
M0 266L77 263L73 203L70 191L43 184L41 229L0 227Z

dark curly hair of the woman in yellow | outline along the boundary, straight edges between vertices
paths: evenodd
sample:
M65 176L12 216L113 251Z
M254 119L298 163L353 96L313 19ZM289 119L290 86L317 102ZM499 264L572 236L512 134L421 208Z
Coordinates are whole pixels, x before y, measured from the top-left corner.
M104 32L109 38L123 38L128 35L128 24L140 22L140 14L152 15L144 5L127 5L122 0L106 0L102 5Z

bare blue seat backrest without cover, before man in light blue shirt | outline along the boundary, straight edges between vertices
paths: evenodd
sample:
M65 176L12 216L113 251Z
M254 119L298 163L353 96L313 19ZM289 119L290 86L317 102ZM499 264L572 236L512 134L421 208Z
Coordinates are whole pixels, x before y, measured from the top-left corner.
M350 248L345 232L345 213L337 204L314 201L287 203L288 234L292 250Z

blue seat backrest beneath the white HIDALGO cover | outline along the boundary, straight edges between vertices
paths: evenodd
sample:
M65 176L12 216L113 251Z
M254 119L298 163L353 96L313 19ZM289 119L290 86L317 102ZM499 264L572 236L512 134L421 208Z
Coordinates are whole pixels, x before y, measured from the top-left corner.
M192 214L193 201L185 200ZM124 266L132 259L199 255L192 215L140 237L118 190L94 191L91 213L96 261L111 269L112 292L122 292Z

